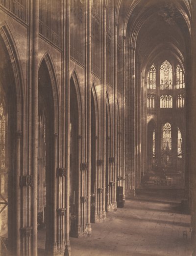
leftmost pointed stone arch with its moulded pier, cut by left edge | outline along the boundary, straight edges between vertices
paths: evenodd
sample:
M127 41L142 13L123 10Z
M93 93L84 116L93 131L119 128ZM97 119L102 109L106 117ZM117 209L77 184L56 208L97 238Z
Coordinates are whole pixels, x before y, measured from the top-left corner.
M22 65L15 40L6 23L0 25L1 63L0 84L4 91L7 109L7 227L8 247L15 251L20 243L20 191L18 188L22 170L25 171L25 157L22 158L25 144L25 89ZM9 70L9 74L7 72ZM9 99L9 100L8 100ZM4 123L5 124L5 123ZM6 136L5 136L6 137ZM16 186L16 184L18 184ZM15 204L15 201L18 203ZM18 237L19 239L16 239Z

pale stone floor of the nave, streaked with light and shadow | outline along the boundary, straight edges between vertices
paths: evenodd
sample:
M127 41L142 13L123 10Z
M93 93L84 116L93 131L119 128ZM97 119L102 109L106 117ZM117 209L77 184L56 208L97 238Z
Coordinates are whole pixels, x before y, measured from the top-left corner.
M92 224L91 237L71 238L72 256L191 256L190 215L181 199L181 190L138 191L105 223Z

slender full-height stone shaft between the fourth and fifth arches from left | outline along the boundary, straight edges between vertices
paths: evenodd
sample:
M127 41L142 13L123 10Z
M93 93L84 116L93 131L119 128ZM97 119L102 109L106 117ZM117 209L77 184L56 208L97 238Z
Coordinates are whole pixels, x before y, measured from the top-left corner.
M103 57L102 57L102 171L103 171L103 205L102 205L102 218L106 219L105 213L105 170L106 170L106 8L107 0L103 2Z

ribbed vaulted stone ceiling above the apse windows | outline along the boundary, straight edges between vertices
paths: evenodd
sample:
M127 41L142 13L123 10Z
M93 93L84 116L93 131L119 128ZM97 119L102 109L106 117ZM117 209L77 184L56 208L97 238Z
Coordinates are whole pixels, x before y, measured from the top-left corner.
M190 55L191 4L188 0L118 0L116 17L122 34L143 68L156 58Z

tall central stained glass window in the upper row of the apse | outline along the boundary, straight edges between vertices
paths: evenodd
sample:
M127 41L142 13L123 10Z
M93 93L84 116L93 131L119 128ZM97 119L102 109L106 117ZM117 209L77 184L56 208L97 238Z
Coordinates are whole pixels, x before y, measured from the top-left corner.
M172 89L172 65L168 60L160 68L160 89Z

